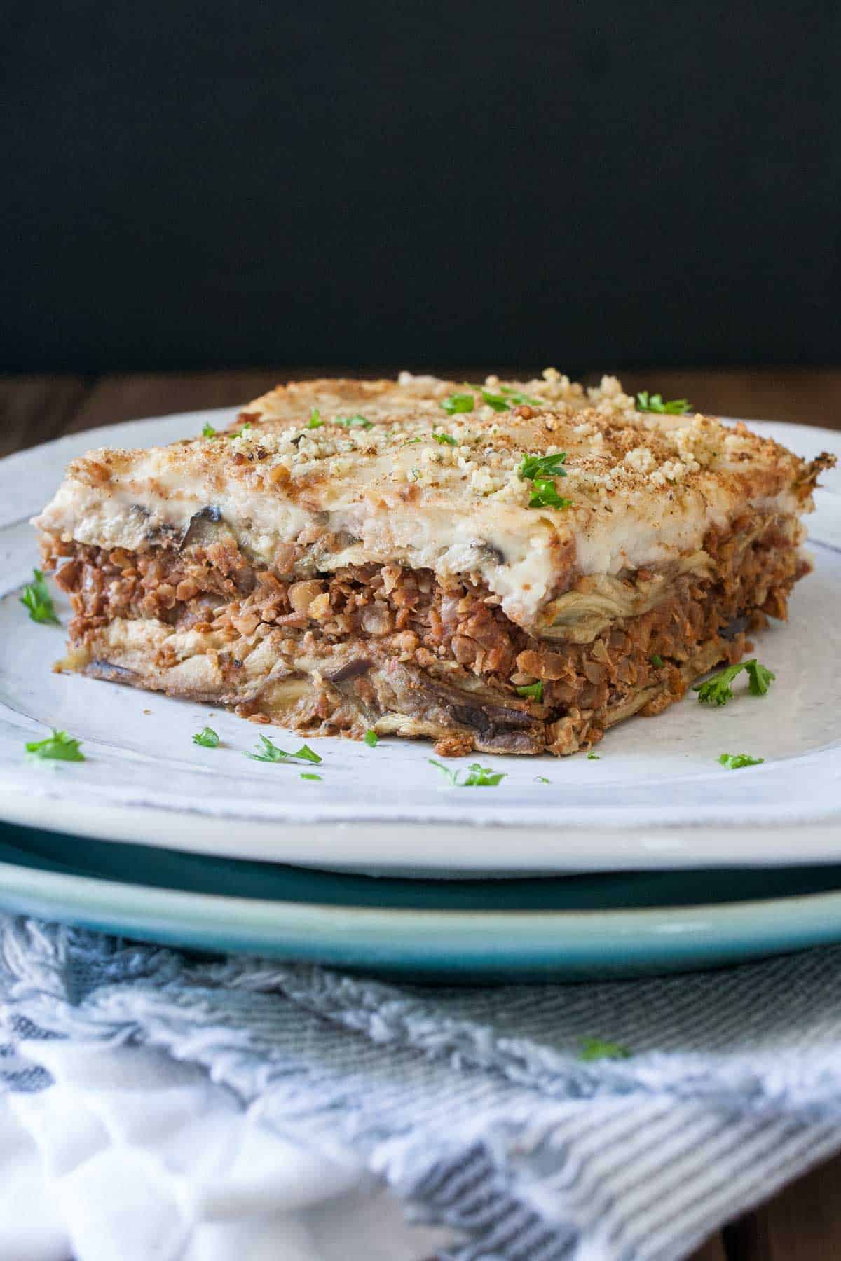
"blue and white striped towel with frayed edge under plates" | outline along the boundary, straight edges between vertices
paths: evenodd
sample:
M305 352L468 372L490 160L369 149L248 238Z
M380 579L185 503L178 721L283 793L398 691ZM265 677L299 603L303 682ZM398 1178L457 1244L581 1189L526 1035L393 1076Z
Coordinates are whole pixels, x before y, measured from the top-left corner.
M5 919L0 1084L48 1100L38 1048L55 1039L145 1048L309 1168L357 1161L458 1261L672 1261L841 1149L840 982L827 947L692 976L421 987Z

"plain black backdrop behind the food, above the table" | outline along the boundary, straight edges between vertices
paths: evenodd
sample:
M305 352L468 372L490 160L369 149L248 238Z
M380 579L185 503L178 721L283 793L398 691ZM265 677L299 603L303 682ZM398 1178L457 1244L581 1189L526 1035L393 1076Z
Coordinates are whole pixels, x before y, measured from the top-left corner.
M0 43L0 369L841 361L837 4L15 4Z

